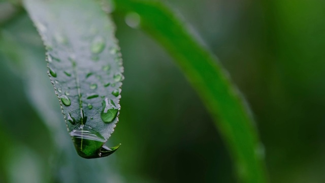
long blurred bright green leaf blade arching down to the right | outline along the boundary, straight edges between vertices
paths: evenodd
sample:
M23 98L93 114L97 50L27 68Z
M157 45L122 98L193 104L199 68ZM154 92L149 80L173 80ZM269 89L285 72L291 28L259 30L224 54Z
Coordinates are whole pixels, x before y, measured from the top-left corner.
M139 27L175 58L214 117L216 127L229 146L239 180L267 182L253 119L216 57L199 45L173 12L160 2L116 0L115 4L117 11L138 14Z

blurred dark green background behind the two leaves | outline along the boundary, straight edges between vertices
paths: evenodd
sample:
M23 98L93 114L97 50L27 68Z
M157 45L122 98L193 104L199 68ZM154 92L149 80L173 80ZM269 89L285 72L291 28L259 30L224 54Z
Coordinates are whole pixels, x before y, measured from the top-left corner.
M325 2L168 4L246 97L270 182L325 182ZM96 160L74 150L31 21L21 13L0 25L0 182L236 182L212 119L169 55L124 15L113 18L125 80L108 143L122 145Z

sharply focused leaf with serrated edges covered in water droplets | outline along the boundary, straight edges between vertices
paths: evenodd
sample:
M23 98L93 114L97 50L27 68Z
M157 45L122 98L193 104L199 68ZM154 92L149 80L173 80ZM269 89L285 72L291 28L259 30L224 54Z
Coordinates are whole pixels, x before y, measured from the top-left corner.
M120 110L123 67L114 25L93 1L26 0L46 46L48 74L77 153L100 158Z

